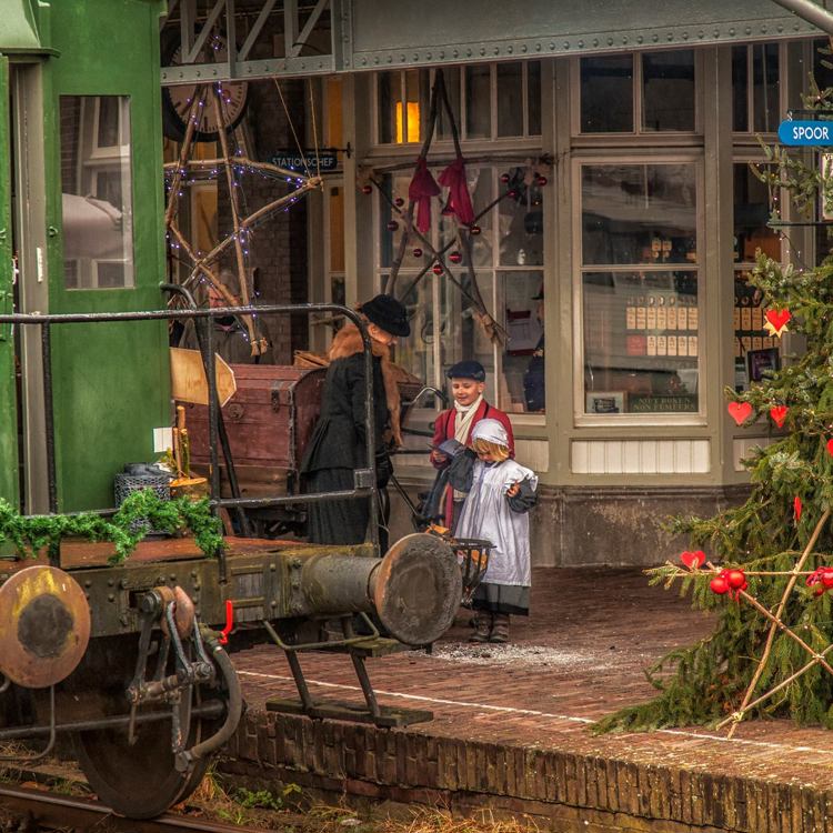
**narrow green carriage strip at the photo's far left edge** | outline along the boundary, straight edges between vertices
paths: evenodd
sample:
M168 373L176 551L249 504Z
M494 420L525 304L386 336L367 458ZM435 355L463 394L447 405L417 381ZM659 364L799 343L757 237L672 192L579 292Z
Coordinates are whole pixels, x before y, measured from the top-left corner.
M0 102L9 100L9 61L0 54ZM0 107L0 310L11 311L11 171L9 108ZM0 498L18 503L17 394L14 345L8 324L0 324Z

